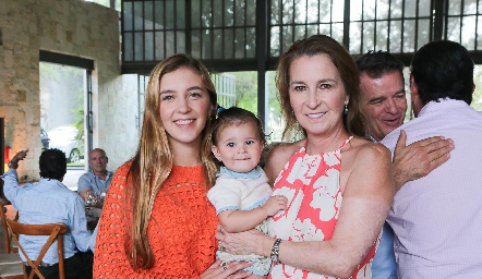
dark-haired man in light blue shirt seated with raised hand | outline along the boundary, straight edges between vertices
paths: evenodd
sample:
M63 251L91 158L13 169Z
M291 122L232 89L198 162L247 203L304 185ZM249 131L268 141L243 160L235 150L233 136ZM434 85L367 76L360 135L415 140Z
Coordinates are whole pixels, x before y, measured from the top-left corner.
M92 278L93 254L88 250L92 234L87 230L84 202L62 183L67 172L65 154L59 149L44 150L39 159L40 181L20 186L16 168L27 153L28 149L15 154L9 163L9 171L1 177L5 197L19 210L21 223L65 223L69 228L63 234L65 278ZM45 238L22 235L20 244L29 258L36 259L45 244ZM23 254L19 254L26 262ZM45 278L58 278L58 263L57 242L53 242L38 269ZM27 274L31 269L29 266L26 267Z

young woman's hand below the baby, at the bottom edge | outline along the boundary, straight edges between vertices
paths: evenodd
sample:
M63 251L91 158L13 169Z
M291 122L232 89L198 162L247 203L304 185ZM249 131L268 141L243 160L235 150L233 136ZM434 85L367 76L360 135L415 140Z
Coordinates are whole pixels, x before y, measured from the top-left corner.
M201 275L201 279L246 278L252 275L252 272L242 269L250 266L251 264L246 262L232 262L222 264L221 260L218 259Z

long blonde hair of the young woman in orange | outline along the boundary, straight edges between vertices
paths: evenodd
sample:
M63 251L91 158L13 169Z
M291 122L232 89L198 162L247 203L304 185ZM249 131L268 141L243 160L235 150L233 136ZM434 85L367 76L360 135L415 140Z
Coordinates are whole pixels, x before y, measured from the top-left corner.
M201 160L205 173L206 190L216 179L216 165L210 155L212 122L216 118L216 89L207 69L196 59L186 54L171 56L158 63L149 76L146 89L144 123L137 153L134 156L128 178L131 184L126 186L126 198L131 198L132 246L128 247L128 257L135 269L147 269L154 265L154 256L147 235L147 227L153 211L154 201L162 187L162 183L172 170L172 151L159 113L160 80L165 74L179 69L190 69L201 76L204 87L209 94L213 110L202 132L200 146ZM129 229L128 229L129 230Z

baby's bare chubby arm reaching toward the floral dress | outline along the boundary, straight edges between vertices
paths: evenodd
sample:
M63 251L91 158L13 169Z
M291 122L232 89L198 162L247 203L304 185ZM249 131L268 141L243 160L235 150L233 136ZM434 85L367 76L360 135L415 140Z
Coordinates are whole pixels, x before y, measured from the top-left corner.
M288 198L286 196L272 196L263 206L251 210L226 210L218 215L219 223L227 232L242 232L254 229L269 216L286 209Z

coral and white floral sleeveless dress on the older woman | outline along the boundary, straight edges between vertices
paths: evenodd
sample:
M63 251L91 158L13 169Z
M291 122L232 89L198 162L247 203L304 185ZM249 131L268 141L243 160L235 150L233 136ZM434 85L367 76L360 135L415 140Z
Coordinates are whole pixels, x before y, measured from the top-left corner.
M268 219L270 236L288 241L325 241L332 238L342 201L341 149L351 138L352 136L334 151L309 155L305 147L301 147L290 158L276 179L272 194L286 196L288 207ZM351 278L372 278L375 245ZM268 278L333 279L335 277L274 263Z

